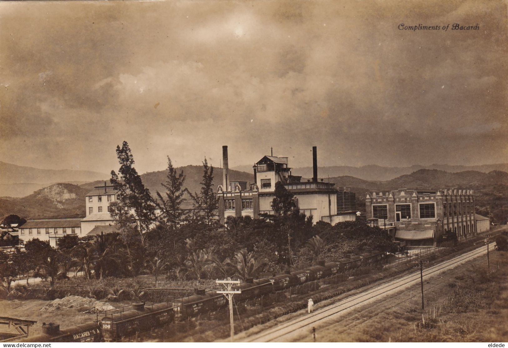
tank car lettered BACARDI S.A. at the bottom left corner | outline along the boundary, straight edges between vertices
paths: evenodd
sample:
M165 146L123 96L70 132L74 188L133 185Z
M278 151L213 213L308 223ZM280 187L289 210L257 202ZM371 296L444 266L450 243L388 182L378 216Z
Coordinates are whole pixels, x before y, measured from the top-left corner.
M28 336L16 342L101 342L101 328L96 322L89 322L60 330L53 323L42 324L43 333Z

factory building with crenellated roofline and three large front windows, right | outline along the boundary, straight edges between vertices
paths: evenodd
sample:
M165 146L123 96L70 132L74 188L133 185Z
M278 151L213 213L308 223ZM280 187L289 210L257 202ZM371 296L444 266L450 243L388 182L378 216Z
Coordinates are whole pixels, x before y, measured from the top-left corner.
M388 227L395 239L408 245L434 245L445 232L456 233L459 240L477 234L469 189L367 193L365 208L367 218L377 218L379 227Z

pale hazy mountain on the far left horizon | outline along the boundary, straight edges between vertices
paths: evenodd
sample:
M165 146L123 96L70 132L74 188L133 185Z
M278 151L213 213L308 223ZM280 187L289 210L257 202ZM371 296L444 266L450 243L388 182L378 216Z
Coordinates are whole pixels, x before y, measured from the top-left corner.
M54 183L81 184L108 177L108 174L85 170L38 169L0 162L0 197L25 197Z

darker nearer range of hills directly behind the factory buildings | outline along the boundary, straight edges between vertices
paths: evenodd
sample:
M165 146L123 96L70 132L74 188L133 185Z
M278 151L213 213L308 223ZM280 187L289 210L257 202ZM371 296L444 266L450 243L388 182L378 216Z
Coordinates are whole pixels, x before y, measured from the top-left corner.
M183 170L185 186L190 192L198 192L203 176L201 166L186 166L177 168ZM144 184L150 189L155 197L156 191L164 192L161 183L166 180L167 171L150 172L141 175ZM236 170L229 171L229 179L233 181L253 182L252 174ZM307 180L305 178L302 181ZM475 202L479 206L490 206L497 209L501 216L508 216L508 173L503 171L491 171L482 173L479 171L463 171L448 173L441 170L419 169L410 174L400 175L391 180L369 181L353 176L335 176L329 178L336 187L348 186L356 193L357 209L365 211L366 192L387 192L398 188L416 189L439 189L439 188L471 188L475 192ZM222 169L214 168L214 190L222 181ZM328 181L328 178L325 180ZM0 218L7 214L18 214L22 217L57 217L76 216L85 214L85 195L94 186L103 185L104 181L93 181L81 185L68 183L54 184L36 191L34 194L23 198L0 198ZM108 181L109 184L109 181ZM188 198L188 197L187 197ZM492 203L495 202L495 203ZM192 202L187 201L185 206ZM497 208L496 208L497 207ZM504 210L503 210L504 209ZM503 215L504 216L504 215ZM499 217L500 219L500 217Z

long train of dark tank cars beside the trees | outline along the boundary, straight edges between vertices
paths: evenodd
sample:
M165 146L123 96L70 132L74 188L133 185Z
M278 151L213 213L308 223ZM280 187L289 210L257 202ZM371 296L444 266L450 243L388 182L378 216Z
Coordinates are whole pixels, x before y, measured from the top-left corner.
M272 292L285 290L310 281L334 276L355 268L369 267L382 262L386 252L373 251L338 262L318 262L315 266L285 272L259 279L247 278L236 284L237 301L258 298ZM25 337L19 342L98 342L120 341L122 337L135 335L137 332L148 331L154 327L170 324L176 320L186 320L200 314L227 307L223 294L215 290L197 289L192 296L175 299L172 302L145 304L134 303L129 309L105 314L98 322L90 322L66 330L59 330L52 324L44 333Z

